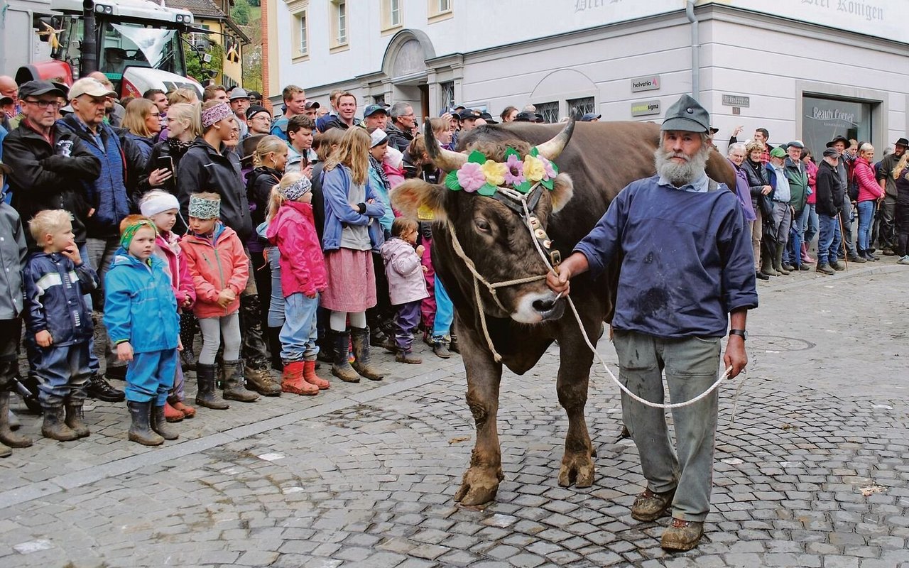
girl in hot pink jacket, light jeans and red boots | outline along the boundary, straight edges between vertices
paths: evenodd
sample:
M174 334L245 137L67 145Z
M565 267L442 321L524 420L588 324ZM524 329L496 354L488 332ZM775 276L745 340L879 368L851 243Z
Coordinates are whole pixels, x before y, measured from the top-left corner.
M302 174L285 174L272 188L268 230L265 236L281 254L281 293L285 298L285 323L281 327L281 390L293 394L319 394L328 381L315 374L315 313L319 293L325 292L325 257L313 219L313 184Z

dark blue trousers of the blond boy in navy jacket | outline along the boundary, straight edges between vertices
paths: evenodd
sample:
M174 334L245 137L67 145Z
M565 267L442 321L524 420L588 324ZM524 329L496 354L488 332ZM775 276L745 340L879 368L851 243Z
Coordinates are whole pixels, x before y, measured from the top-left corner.
M88 366L90 345L88 341L50 347L35 344L35 375L41 406L55 408L67 401L85 400L85 384L92 375Z

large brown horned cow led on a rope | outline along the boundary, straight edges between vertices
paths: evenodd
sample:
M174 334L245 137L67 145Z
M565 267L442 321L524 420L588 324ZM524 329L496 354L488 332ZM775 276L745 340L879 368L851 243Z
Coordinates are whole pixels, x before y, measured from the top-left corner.
M426 146L444 171L460 167L465 154L439 148L427 124ZM571 144L568 144L568 141ZM627 184L654 175L654 150L659 126L640 123L569 122L559 132L556 125L510 123L484 126L464 136L462 150L478 149L490 159L504 162L505 148L522 156L535 144L552 159L560 172L552 192L542 191L532 214L563 255L577 244L605 213L612 198ZM707 172L716 181L734 187L730 164L714 152ZM570 174L565 175L565 174ZM452 234L463 247L475 270L488 283L502 283L546 274L526 221L507 200L451 191L445 185L412 180L392 192L392 203L404 214L417 216L428 207L435 213L433 264L451 295L455 328L467 373L467 404L476 423L476 443L470 468L454 499L464 504L494 499L503 479L496 428L502 364L524 374L539 361L553 341L559 343L556 391L568 414L568 432L558 482L588 487L594 483L594 448L584 422L587 383L593 354L573 314L564 314L564 298L557 299L544 280L501 287L493 297L481 285L482 305L474 296L474 277L455 254ZM615 264L617 266L617 264ZM587 274L572 279L571 297L581 314L584 329L596 340L604 321L612 317L616 271L591 280ZM504 309L503 309L504 308ZM483 312L495 351L496 363L483 333ZM563 316L564 315L564 316Z

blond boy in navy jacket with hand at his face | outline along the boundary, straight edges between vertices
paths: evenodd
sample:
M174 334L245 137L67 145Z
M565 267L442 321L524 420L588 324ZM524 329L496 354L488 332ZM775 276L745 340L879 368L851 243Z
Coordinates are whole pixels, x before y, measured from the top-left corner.
M84 296L98 285L97 274L79 255L71 218L63 209L35 214L28 228L44 251L31 254L23 271L26 336L36 344L38 398L45 414L41 433L60 442L90 433L82 407L92 375L88 353L94 326Z

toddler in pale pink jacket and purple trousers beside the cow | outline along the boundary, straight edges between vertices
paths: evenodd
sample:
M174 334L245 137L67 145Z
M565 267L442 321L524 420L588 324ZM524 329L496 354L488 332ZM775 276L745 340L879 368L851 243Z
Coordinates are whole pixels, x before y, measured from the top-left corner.
M395 346L398 363L420 364L423 360L415 357L411 348L414 332L420 323L420 304L425 297L426 282L423 274L426 267L420 264L424 247L416 249L416 234L419 225L415 219L397 217L392 223L392 238L382 245L382 259L385 261L385 275L391 302L397 308L395 314Z

